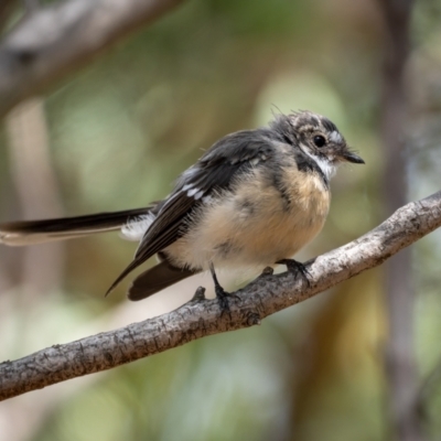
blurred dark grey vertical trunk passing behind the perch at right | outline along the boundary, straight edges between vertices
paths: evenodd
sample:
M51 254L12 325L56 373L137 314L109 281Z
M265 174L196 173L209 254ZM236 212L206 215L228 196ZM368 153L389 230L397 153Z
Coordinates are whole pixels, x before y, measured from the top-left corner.
M385 205L387 213L408 200L405 154L407 101L405 68L410 55L412 0L384 0L385 62L383 72L381 138L385 151ZM422 440L418 409L419 380L415 357L415 287L410 250L386 266L386 302L389 338L386 345L386 376L395 437L400 441Z

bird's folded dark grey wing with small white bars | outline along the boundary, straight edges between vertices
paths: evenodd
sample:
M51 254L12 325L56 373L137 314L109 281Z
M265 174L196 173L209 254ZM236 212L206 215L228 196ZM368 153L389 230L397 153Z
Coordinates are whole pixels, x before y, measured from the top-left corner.
M240 131L217 141L180 176L171 195L158 204L157 213L153 212L155 219L146 232L135 259L107 293L135 268L182 237L185 219L204 204L206 196L230 187L238 174L269 159L273 141L271 131L266 129Z

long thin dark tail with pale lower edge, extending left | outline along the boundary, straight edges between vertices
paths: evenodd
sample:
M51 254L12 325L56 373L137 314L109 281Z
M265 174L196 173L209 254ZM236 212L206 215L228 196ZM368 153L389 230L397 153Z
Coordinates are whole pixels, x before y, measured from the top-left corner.
M58 219L0 224L0 244L10 246L34 245L111 232L120 229L130 217L144 215L150 209L151 207L146 207Z

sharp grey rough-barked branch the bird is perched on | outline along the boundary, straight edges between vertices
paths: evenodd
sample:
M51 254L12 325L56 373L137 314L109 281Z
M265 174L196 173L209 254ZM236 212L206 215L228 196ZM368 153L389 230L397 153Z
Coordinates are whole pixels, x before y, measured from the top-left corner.
M0 364L0 399L133 362L193 340L260 321L362 271L441 226L441 191L405 205L358 239L308 262L310 284L293 273L262 273L230 299L219 316L216 300L192 300L168 314Z

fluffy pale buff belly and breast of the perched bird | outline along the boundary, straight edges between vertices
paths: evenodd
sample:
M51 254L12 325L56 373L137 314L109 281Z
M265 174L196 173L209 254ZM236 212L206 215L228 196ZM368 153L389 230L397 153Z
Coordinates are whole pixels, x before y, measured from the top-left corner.
M207 269L209 262L215 268L265 267L290 258L325 222L330 193L316 179L302 179L303 186L288 183L284 198L275 186L244 183L201 209L190 233L165 252L172 263L193 269Z

